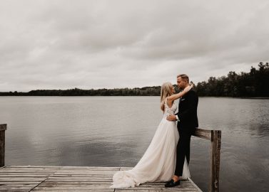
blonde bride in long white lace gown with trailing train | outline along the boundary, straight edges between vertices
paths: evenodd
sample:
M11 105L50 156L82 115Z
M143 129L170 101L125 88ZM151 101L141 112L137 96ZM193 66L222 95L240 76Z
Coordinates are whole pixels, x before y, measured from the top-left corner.
M138 164L128 171L117 171L113 175L113 182L109 188L127 188L139 186L141 183L153 181L168 181L173 177L176 169L176 147L179 134L176 122L166 119L169 114L175 114L177 105L175 100L185 95L193 85L189 85L177 94L171 82L165 82L161 86L161 119L156 133L151 140L145 154ZM181 178L190 177L190 171L185 158L183 175Z

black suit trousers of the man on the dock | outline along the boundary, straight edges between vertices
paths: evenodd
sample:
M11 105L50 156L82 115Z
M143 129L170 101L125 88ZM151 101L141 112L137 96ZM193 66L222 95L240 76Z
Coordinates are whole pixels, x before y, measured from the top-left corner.
M188 164L190 162L190 143L191 133L180 130L178 145L176 148L176 176L182 176L185 156Z

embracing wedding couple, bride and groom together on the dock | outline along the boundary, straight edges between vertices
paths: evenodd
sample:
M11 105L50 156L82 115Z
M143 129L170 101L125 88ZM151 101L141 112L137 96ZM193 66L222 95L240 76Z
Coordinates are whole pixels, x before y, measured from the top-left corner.
M181 179L191 176L188 163L191 135L198 127L198 96L189 84L188 75L178 75L177 85L183 90L177 94L171 82L161 86L163 119L151 144L133 169L117 171L113 175L110 188L135 187L154 181L168 181L165 186L173 187L180 185ZM177 106L175 100L178 98Z

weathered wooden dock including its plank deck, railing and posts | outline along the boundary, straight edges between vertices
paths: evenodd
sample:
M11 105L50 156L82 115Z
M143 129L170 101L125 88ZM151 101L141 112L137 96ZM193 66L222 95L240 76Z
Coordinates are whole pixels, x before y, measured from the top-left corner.
M101 166L4 166L6 124L0 124L1 191L201 191L191 178L180 186L166 188L166 182L142 183L135 188L109 188L116 171L131 167ZM218 192L220 171L220 130L196 129L195 137L211 142L208 191Z

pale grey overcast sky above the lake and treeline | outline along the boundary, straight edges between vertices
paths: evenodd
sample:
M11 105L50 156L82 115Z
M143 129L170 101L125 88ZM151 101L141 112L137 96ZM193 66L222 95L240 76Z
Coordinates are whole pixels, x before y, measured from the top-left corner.
M268 0L0 0L0 91L248 72L269 60L268 10Z

